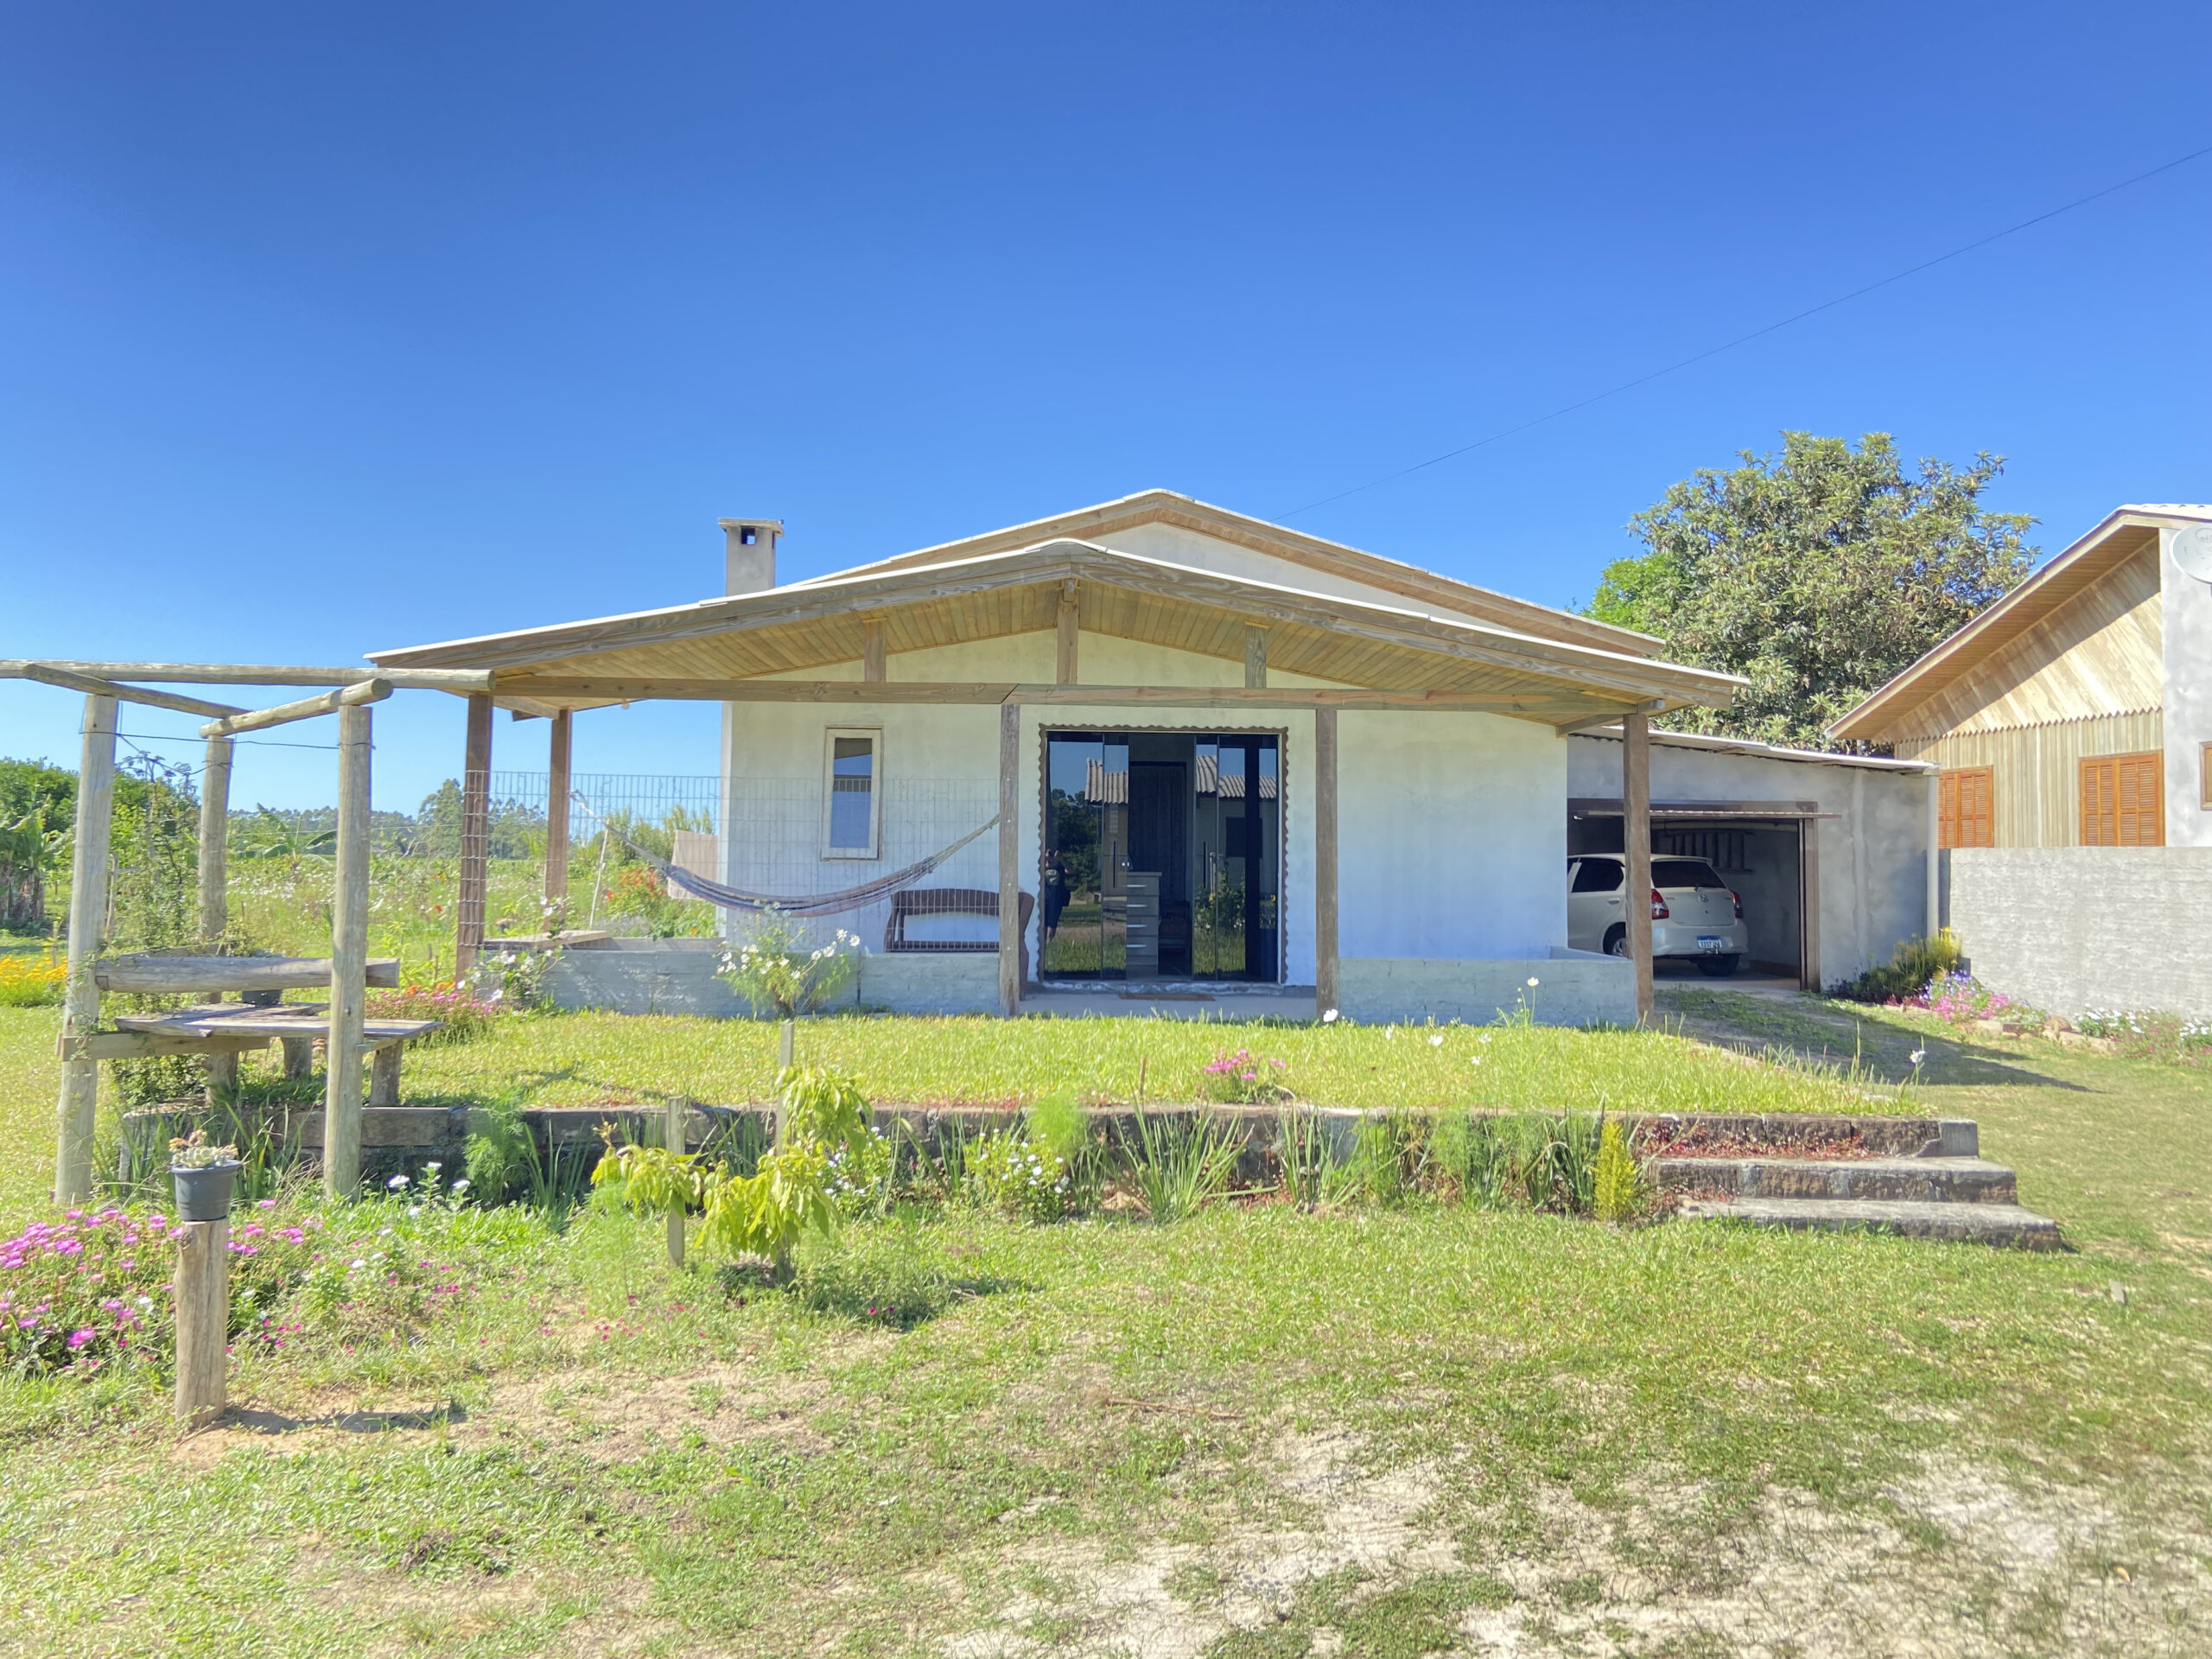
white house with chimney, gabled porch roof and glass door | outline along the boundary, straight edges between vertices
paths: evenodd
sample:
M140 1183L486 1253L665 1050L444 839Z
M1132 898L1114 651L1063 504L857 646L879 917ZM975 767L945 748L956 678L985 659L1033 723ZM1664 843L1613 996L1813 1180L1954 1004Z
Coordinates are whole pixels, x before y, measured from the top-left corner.
M723 703L721 880L752 894L856 889L998 821L841 918L863 1002L1318 989L1489 1020L1535 978L1540 1018L1635 1018L1630 964L1566 947L1568 732L1739 679L1168 491L785 586L774 520L723 529L728 595L374 661L491 668L518 717Z

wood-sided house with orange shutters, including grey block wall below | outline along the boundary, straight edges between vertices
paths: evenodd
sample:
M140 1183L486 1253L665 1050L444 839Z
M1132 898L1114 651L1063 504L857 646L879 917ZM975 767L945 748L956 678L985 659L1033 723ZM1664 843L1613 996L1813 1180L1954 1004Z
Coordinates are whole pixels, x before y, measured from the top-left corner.
M2212 1015L2212 507L2121 507L1832 728L1940 768L1940 914L2055 1013Z

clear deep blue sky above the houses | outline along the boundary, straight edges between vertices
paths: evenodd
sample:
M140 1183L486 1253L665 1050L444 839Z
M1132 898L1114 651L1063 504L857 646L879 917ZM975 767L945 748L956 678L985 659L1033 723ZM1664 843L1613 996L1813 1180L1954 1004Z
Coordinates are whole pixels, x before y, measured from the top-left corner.
M2212 144L2208 46L2201 4L11 4L0 655L686 602L730 513L794 577L1152 484L1285 515ZM1566 604L1785 427L2004 453L2046 551L2205 500L2208 208L2212 157L1290 522ZM75 717L0 686L0 754ZM712 730L586 714L577 768ZM378 805L460 737L387 703ZM241 750L241 803L332 790Z

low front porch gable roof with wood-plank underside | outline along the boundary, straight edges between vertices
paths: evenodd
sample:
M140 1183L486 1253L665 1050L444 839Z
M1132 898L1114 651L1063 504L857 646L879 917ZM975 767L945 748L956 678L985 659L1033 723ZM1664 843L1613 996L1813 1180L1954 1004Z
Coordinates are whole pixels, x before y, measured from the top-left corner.
M1082 626L1093 633L1241 659L1245 628L1263 626L1270 666L1283 672L1356 688L1495 695L1500 712L1526 719L1575 719L1641 699L1725 703L1743 684L1641 653L1411 604L1307 593L1064 538L889 566L688 606L378 650L372 659L491 668L495 699L531 712L712 697L739 679L852 664L863 655L869 622L883 626L891 653L1048 630L1075 584ZM896 697L896 684L885 697Z

